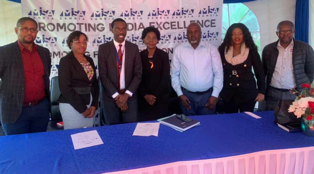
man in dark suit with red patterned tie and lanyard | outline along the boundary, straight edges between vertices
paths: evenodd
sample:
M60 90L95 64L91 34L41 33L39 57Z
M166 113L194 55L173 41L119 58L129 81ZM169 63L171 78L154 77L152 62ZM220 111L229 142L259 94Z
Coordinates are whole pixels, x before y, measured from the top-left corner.
M103 113L107 125L136 122L137 88L142 79L138 46L125 41L127 23L117 18L111 23L114 40L98 49L98 69L103 85Z

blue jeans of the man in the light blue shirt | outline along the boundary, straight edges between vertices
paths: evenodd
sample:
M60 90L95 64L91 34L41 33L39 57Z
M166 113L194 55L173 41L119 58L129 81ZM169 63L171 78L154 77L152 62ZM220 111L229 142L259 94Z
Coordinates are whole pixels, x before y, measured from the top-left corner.
M191 115L210 115L215 113L215 107L209 111L206 107L207 101L210 96L212 96L213 90L209 90L207 93L204 94L194 94L185 89L182 89L183 95L185 95L189 100L189 105L191 109L186 109L183 107L182 103L180 102L180 108L182 114L186 116Z

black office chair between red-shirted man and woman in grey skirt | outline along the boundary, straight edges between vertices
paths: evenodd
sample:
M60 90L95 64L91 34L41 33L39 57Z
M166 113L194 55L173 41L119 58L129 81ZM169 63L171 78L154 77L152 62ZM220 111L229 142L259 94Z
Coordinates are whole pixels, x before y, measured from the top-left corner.
M47 131L63 130L63 127L57 126L57 122L62 122L61 113L59 110L58 98L61 92L59 89L58 76L51 79L50 101L51 101L51 121L48 122Z

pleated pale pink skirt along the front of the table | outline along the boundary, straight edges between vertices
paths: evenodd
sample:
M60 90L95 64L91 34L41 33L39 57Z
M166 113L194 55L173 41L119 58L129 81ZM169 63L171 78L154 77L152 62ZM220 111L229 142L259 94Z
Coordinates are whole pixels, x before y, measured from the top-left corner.
M314 146L178 161L106 174L314 174Z

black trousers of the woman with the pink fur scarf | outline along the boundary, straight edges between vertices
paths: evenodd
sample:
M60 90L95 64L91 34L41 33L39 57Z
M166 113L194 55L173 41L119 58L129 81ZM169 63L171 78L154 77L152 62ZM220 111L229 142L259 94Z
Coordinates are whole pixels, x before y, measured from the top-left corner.
M256 101L247 101L243 103L238 103L234 101L234 98L232 97L230 101L226 102L224 101L224 110L225 113L238 113L240 112L253 112L254 106L256 104Z

